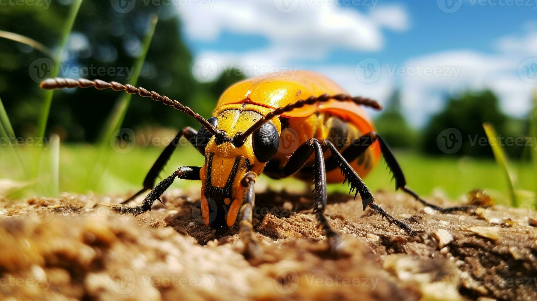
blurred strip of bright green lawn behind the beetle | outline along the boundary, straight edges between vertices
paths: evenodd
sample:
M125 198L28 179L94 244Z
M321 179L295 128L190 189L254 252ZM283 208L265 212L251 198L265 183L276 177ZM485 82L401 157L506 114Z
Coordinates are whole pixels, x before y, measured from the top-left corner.
M23 157L31 158L31 152L37 150L32 148L19 149ZM113 152L108 160L101 185L93 190L102 194L122 194L127 191L134 191L141 188L141 183L147 171L154 163L162 148L136 146L132 152L120 154ZM86 183L89 174L95 166L93 158L98 152L97 146L92 145L62 145L60 147L60 191L86 193ZM496 202L510 205L509 192L504 181L502 170L492 159L474 159L470 157L430 157L414 153L396 152L396 156L404 170L410 188L423 196L431 196L436 192L442 192L447 197L455 199L461 195L466 195L468 191L481 188L495 197ZM28 162L31 163L31 162ZM24 179L23 173L17 168L15 162L2 162L10 171L12 178ZM191 146L180 146L170 162L165 167L162 177L171 174L177 167L185 165L203 164L203 157ZM519 189L533 189L534 171L531 164L523 162L513 162L514 170L517 170ZM50 178L53 175L40 175L40 178ZM384 169L384 162L381 161L364 181L372 191L385 189L394 190L394 182L390 182L390 174ZM298 184L298 180L272 180L262 177L262 181L269 182L271 187L288 187ZM176 181L174 187L194 187L199 188L199 181ZM329 191L348 192L348 188L340 184L331 184Z

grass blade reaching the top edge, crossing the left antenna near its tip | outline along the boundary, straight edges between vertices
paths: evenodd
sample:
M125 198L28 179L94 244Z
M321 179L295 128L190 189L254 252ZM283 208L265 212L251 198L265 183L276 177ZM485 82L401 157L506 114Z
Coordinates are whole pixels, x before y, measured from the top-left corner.
M72 26L75 24L76 15L78 9L82 4L82 0L74 0L67 16L66 24L63 26L63 31L60 39L60 44L53 56L54 70L52 71L52 77L57 77L60 70L60 63L63 58L63 51L71 34ZM38 135L37 137L45 137L47 130L48 114L50 113L50 105L52 104L52 98L54 96L54 89L45 91L45 102L41 108L41 116L38 123Z

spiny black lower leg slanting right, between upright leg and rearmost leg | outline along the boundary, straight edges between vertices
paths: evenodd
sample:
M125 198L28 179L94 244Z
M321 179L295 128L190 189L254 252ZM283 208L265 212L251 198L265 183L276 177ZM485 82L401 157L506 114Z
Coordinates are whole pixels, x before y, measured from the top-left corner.
M364 206L363 209L365 210L366 206L369 206L371 207L371 209L373 209L373 211L379 213L382 217L385 217L388 220L388 223L390 223L390 225L394 223L397 227L407 232L410 236L417 236L418 233L412 230L409 225L403 223L400 220L395 219L393 216L388 214L388 212L384 211L381 206L374 203L374 198L371 194L371 191L369 191L364 181L362 181L358 174L352 169L349 162L345 161L345 158L341 154L339 154L332 142L326 140L324 142L330 149L333 160L335 160L337 166L342 171L343 175L345 175L345 181L349 181L349 184L351 185L351 191L356 189L356 194L354 195L354 197L360 194L360 197L362 198L362 205Z

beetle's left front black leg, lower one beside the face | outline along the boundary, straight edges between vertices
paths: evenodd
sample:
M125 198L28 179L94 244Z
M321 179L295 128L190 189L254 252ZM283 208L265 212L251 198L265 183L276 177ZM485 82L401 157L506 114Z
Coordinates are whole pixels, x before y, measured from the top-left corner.
M142 204L139 206L127 206L123 204L107 204L107 207L111 207L120 214L133 214L134 216L139 216L140 214L151 211L151 206L155 200L160 200L161 195L168 189L176 177L183 180L200 180L200 169L199 166L183 166L179 167L173 174L169 177L166 177L160 183L158 183L153 190L149 192L146 198L143 199Z

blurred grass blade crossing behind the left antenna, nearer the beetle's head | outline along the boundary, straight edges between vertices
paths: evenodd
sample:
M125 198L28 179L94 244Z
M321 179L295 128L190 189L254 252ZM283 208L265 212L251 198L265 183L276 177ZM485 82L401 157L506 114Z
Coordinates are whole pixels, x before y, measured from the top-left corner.
M132 84L134 86L136 86L138 78L140 77L143 63L146 60L146 55L149 50L149 46L151 45L151 40L153 40L157 21L158 17L156 15L152 15L150 17L148 32L142 44L142 51L140 53L140 56L135 61L133 75L128 81L129 84ZM110 138L115 131L119 130L121 124L123 123L131 98L132 95L130 94L122 95L119 101L114 105L112 113L107 118L105 126L103 127L103 130L99 135L99 155L96 161L97 163L95 164L95 167L90 173L89 180L86 181L86 183L88 183L88 187L86 187L86 189L96 189L99 186L99 182L103 177L105 167L110 157L110 152L108 152L108 144L110 144Z

